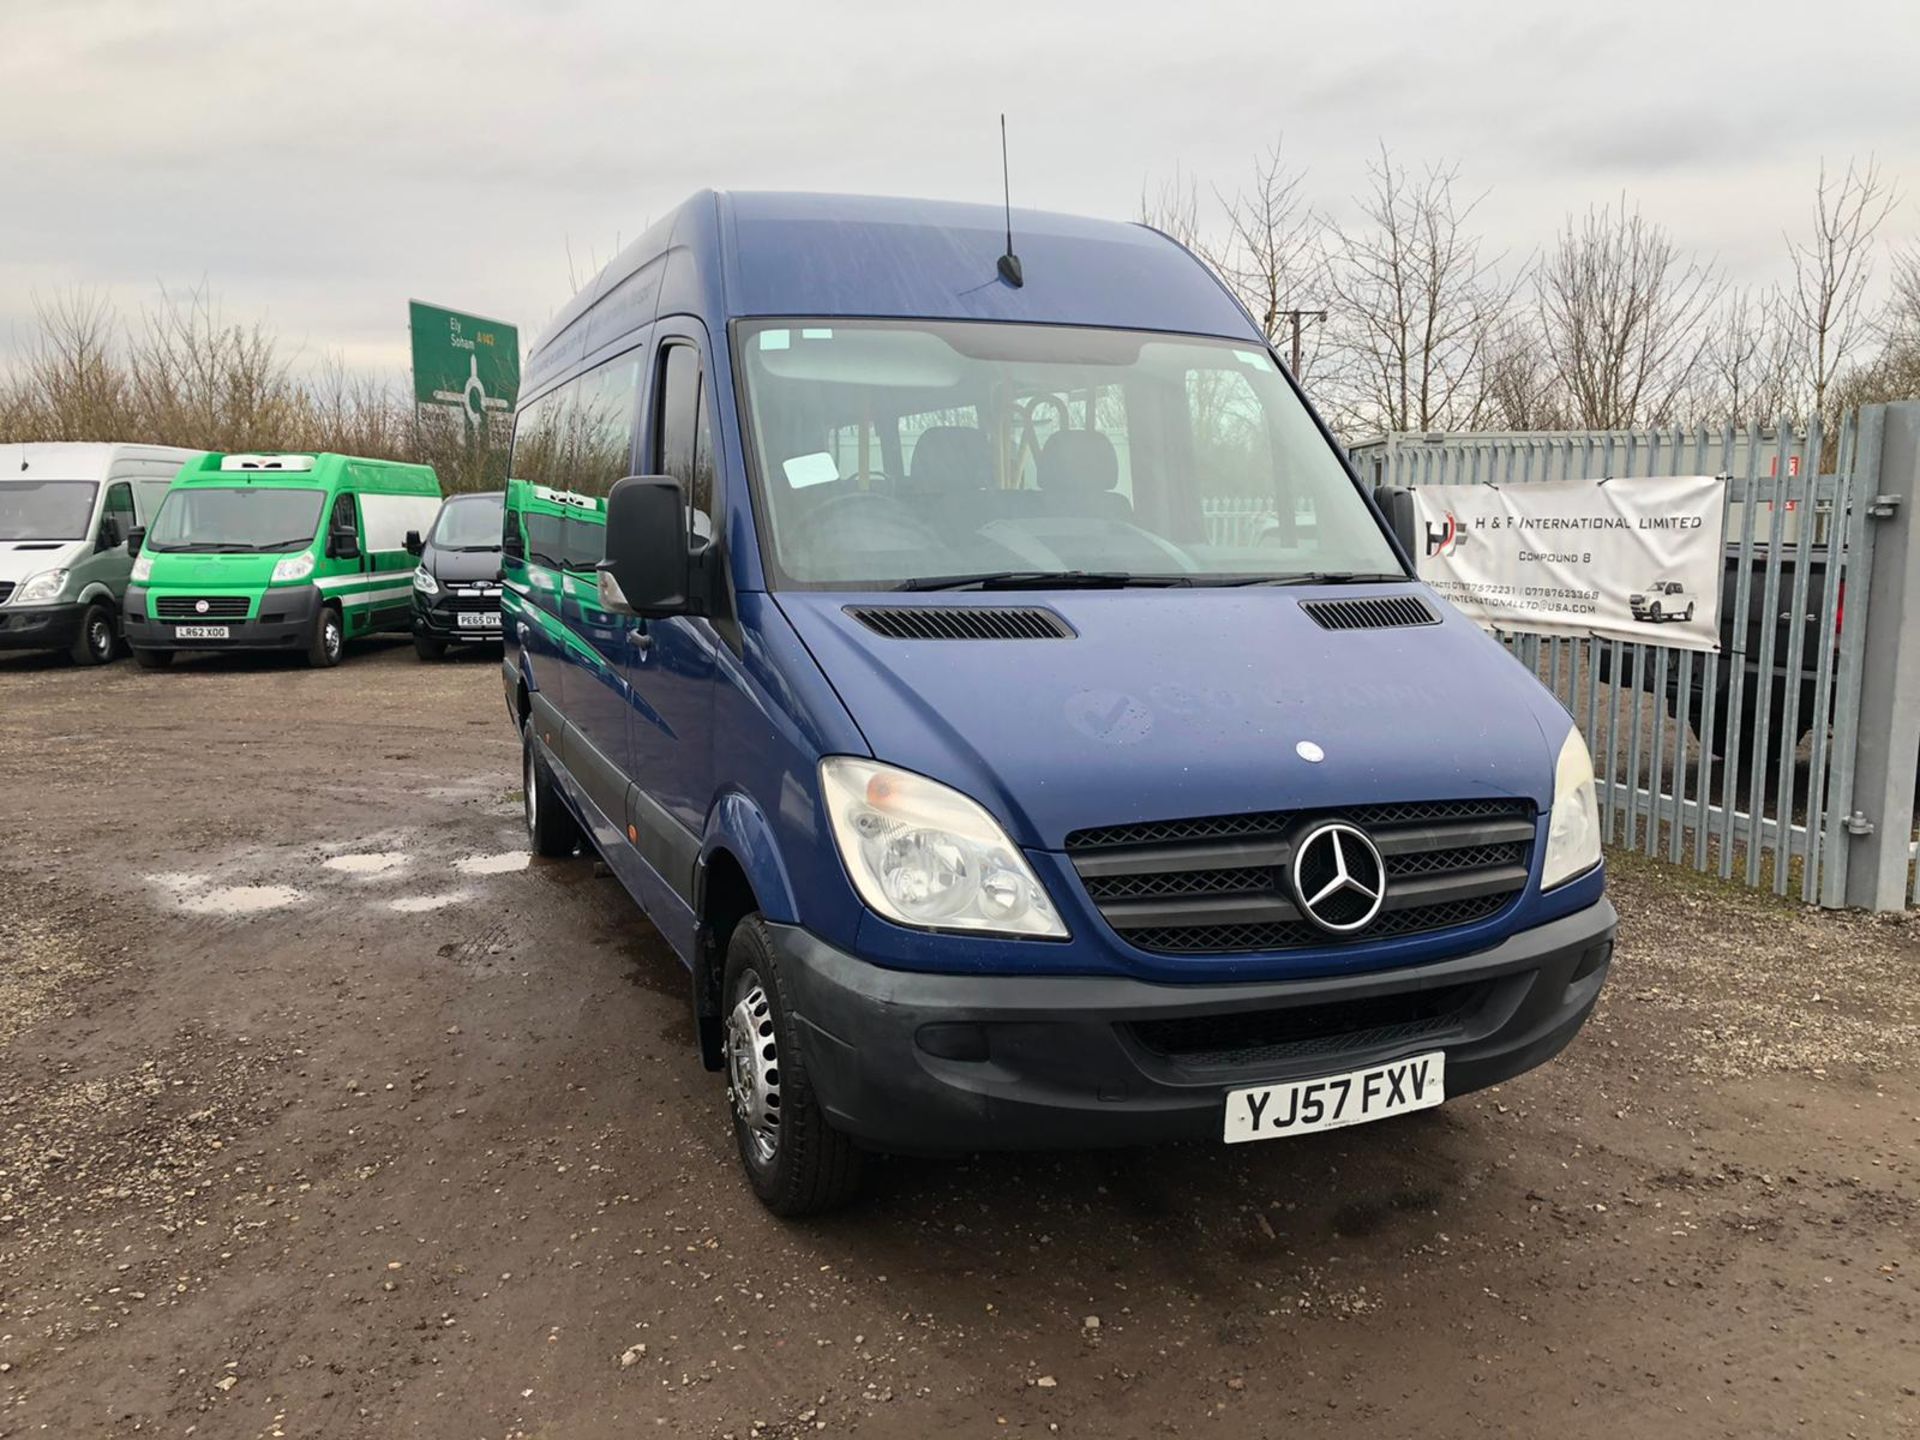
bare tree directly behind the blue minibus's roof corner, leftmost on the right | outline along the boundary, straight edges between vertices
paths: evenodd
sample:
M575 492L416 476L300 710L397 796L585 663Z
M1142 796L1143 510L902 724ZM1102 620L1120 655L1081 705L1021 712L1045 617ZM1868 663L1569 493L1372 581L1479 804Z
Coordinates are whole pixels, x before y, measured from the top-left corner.
M1298 378L1313 367L1317 332L1309 317L1321 313L1315 286L1321 276L1319 225L1300 192L1306 171L1288 169L1275 140L1254 159L1244 190L1215 188L1227 211L1227 238L1202 248L1204 259L1254 315L1261 334L1281 353L1298 355Z

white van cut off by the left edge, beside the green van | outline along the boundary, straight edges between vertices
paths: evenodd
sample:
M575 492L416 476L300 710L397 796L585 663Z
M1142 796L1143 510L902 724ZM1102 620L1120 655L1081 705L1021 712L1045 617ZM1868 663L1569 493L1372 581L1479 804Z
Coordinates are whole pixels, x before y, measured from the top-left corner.
M159 511L198 449L0 445L0 651L104 664L121 645L127 536Z

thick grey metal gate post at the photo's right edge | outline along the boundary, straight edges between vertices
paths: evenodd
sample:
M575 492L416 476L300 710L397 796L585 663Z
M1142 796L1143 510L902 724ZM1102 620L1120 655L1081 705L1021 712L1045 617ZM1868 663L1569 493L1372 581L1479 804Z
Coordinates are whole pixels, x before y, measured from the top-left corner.
M1884 409L1880 465L1859 476L1853 505L1870 532L1872 574L1859 599L1847 586L1849 618L1866 601L1853 803L1843 816L1847 904L1905 910L1920 758L1920 624L1908 624L1920 609L1920 401Z

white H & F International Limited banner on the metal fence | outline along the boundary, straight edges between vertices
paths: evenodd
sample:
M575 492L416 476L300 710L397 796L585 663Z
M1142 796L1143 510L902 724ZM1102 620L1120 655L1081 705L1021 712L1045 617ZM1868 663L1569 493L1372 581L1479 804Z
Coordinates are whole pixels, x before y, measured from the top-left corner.
M1419 486L1421 580L1494 630L1720 649L1716 476Z

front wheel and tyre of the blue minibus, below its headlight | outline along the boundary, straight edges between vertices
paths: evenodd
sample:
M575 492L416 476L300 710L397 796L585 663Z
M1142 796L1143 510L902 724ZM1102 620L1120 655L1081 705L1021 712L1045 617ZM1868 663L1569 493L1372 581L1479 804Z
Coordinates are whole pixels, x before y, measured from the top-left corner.
M837 1210L860 1188L862 1156L812 1091L787 979L758 914L733 927L720 995L728 1110L747 1181L776 1215Z

